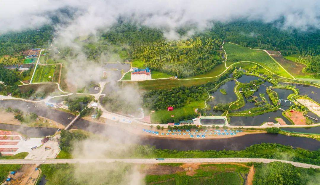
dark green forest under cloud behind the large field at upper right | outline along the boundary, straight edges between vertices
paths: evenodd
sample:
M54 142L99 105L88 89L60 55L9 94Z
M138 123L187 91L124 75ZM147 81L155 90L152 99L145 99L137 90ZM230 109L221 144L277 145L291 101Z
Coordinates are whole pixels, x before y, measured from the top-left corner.
M266 50L280 50L282 55L320 53L320 30L281 29L276 23L236 20L227 24L216 23L208 32L213 37L242 46Z

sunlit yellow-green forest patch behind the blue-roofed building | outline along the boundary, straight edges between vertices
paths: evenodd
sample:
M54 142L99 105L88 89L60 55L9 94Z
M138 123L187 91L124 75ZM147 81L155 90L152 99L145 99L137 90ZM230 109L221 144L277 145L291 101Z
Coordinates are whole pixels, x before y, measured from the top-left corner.
M207 73L221 64L217 50L222 40L195 37L188 40L157 42L135 47L133 58L138 58L153 70L177 75L180 78Z

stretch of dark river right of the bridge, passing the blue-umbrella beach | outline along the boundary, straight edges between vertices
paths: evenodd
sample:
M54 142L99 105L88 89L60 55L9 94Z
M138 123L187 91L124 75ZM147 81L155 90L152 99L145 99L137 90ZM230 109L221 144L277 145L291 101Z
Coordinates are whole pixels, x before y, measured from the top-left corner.
M73 127L77 127L95 134L106 135L119 138L120 142L125 142L119 137L119 128L100 123L89 122L84 119L78 119ZM108 130L108 132L106 132ZM129 137L137 137L129 133L123 133ZM320 148L320 142L311 138L292 137L280 134L248 134L239 137L224 139L169 139L156 137L139 137L139 144L148 144L157 149L170 150L243 150L248 146L259 143L279 143L291 145L293 147L304 148L308 150L317 150Z

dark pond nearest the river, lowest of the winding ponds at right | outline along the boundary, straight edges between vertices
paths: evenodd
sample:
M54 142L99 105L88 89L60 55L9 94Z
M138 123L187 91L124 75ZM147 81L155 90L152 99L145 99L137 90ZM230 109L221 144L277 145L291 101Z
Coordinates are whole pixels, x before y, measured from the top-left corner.
M275 118L281 117L287 125L291 125L291 122L286 119L280 110L267 112L257 116L230 116L230 125L239 126L260 126L263 122L276 122Z

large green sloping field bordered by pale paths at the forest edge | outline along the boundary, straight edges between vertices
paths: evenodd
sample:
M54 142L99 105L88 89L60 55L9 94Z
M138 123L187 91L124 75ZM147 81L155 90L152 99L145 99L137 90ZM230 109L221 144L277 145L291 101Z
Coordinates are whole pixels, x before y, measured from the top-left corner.
M223 44L223 49L226 50L227 53L227 66L234 62L251 61L260 64L279 76L292 78L290 74L277 64L265 51L252 50L229 42Z

